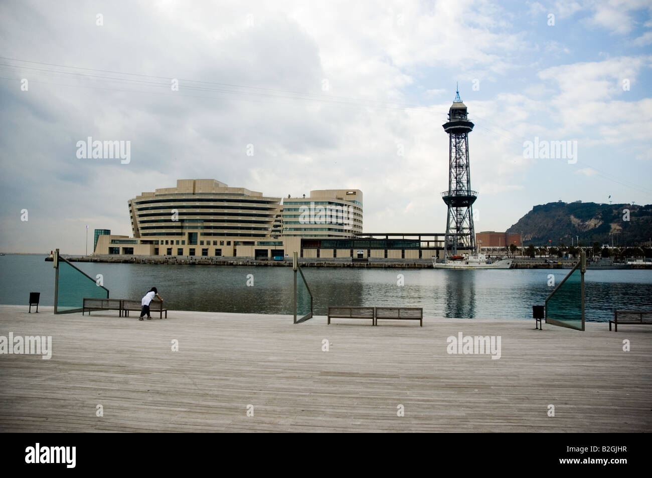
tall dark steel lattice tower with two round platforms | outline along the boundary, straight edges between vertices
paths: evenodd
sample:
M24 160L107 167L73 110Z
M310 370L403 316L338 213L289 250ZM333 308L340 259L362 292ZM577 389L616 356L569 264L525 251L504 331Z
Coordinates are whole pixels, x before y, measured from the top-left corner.
M449 120L443 125L449 134L449 189L441 193L448 206L446 221L446 250L456 255L458 249L475 249L473 203L478 193L471 190L469 170L469 132L473 123L467 118L466 105L456 91L449 109Z

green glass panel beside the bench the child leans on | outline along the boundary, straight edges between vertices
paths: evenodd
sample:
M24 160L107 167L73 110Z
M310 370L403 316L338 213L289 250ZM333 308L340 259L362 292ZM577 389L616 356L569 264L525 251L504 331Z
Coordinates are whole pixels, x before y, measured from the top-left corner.
M109 291L65 260L59 259L57 313L81 310L85 297L106 299Z

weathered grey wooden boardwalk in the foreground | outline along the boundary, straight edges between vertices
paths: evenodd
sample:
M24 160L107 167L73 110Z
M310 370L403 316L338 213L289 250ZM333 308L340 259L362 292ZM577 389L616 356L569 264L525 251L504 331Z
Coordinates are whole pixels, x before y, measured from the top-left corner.
M649 326L40 310L0 306L0 335L53 342L50 360L0 355L3 432L652 431ZM460 331L501 336L501 358L447 354Z

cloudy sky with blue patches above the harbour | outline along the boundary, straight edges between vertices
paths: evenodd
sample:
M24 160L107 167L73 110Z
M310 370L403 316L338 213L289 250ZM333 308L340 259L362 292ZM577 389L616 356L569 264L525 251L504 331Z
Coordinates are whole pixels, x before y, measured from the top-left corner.
M456 85L476 231L652 203L649 0L3 1L0 42L2 252L130 235L128 199L181 178L355 188L365 232L444 232ZM88 137L128 161L80 158Z

